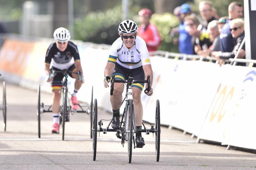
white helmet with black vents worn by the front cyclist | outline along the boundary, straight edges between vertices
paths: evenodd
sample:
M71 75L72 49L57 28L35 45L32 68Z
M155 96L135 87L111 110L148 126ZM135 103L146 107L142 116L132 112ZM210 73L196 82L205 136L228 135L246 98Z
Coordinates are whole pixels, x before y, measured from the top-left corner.
M127 19L119 24L118 32L120 34L137 33L138 26L134 21Z

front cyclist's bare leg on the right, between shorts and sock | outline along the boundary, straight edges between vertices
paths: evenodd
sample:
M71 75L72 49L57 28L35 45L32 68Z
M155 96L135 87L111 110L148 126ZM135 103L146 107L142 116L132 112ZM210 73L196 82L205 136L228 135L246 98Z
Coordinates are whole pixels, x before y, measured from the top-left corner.
M134 101L134 114L136 126L142 126L143 108L141 103L141 90L137 87L132 87L132 97Z

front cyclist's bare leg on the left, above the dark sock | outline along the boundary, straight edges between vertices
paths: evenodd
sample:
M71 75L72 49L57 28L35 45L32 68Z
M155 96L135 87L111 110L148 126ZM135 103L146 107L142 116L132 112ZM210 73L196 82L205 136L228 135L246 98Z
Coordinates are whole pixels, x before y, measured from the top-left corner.
M110 96L110 102L113 110L118 110L122 104L122 92L124 91L124 83L114 83L113 95Z

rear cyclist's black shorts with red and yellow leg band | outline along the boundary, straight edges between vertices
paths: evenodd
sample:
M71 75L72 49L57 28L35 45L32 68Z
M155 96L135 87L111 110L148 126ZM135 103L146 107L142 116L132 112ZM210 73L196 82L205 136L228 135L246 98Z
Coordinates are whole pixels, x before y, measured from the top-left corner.
M60 69L57 69L55 67L52 67L53 70L61 71ZM74 72L75 70L75 64L71 65L68 70L71 72ZM68 74L70 77L72 77L72 74ZM62 88L62 80L64 78L63 73L56 73L56 75L53 77L53 81L51 82L51 89L61 89ZM73 78L73 77L72 77Z

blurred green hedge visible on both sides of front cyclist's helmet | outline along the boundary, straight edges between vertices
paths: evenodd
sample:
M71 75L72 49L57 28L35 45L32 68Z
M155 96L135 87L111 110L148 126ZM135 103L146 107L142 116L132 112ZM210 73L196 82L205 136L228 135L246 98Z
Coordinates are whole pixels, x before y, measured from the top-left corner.
M121 7L114 7L106 12L90 12L84 18L75 20L75 39L99 44L112 44L118 38L118 25L122 21ZM133 18L139 24L139 16ZM157 26L161 36L159 50L177 52L170 38L170 30L177 26L178 20L171 13L153 14L150 20Z

